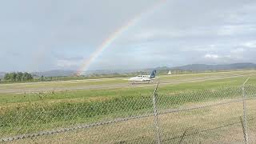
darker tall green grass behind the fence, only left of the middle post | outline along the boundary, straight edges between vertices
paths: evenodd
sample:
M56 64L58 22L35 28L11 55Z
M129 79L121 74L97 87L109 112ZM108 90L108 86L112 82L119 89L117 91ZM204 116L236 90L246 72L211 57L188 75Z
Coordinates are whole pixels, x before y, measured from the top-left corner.
M150 113L149 96L112 98L102 102L30 103L0 114L0 131L12 133L46 130L78 123L98 122L112 118ZM43 127L42 127L43 126ZM21 130L21 133L24 133ZM0 136L2 135L0 132Z

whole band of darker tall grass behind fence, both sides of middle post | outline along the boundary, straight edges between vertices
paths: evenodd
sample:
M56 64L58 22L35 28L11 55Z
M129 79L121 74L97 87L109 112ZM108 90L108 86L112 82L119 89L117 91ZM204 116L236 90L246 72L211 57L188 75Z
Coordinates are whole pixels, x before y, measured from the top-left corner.
M253 89L250 86L251 90ZM158 94L158 108L171 109L187 103L240 98L241 87L217 90L190 90L174 94ZM14 106L0 114L0 137L50 130L79 123L90 123L153 113L152 95L109 98L91 102L31 102Z

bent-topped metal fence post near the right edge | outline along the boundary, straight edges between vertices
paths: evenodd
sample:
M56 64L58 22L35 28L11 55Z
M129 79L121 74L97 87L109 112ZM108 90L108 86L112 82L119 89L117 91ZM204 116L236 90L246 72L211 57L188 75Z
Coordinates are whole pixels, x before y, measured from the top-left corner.
M244 138L245 138L246 144L248 144L248 128L247 128L247 110L246 110L245 86L246 86L246 82L248 82L249 79L250 79L250 77L247 78L246 81L242 84L243 126L244 126Z

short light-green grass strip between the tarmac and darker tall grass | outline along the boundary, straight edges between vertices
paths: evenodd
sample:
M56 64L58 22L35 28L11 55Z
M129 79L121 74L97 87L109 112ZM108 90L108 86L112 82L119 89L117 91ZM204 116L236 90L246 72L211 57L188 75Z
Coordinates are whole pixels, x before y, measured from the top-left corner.
M185 90L207 90L219 87L240 86L246 77L226 78L205 82L190 82L178 85L160 85L159 94L174 94ZM251 77L249 84L256 83L256 77ZM111 90L68 90L62 92L51 91L49 93L31 93L31 94L0 94L1 106L22 102L79 102L93 101L99 99L118 98L126 96L150 95L154 86L149 87L128 87L115 88ZM0 107L1 107L0 106Z

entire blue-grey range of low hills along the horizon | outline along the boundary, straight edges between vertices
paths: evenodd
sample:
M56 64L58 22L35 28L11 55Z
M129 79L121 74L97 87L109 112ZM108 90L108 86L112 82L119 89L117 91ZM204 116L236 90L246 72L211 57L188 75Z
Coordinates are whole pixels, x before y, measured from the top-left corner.
M243 70L243 69L256 69L256 64L254 63L234 63L227 65L206 65L206 64L191 64L186 66L176 66L176 67L155 67L145 70L90 70L86 71L84 75L90 74L126 74L126 73L145 73L148 74L151 70L158 70L158 73L166 74L169 70L182 70L182 71L193 71L193 72L203 72L203 71L219 71L219 70ZM3 72L0 72L0 78L4 77ZM65 77L72 76L76 74L75 70L49 70L44 72L34 72L32 73L41 77Z

